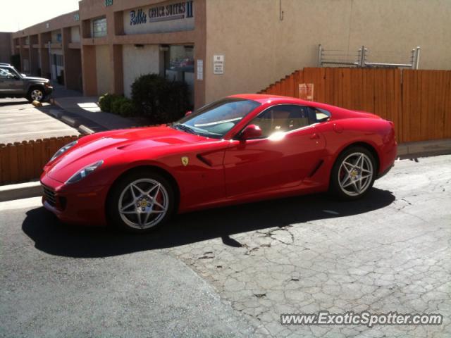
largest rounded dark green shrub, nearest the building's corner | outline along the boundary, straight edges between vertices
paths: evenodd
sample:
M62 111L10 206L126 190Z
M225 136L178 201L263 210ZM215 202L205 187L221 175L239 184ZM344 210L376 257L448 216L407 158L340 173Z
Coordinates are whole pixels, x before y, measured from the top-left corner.
M132 84L132 101L137 114L154 123L170 123L190 110L187 84L169 81L156 74L142 75Z

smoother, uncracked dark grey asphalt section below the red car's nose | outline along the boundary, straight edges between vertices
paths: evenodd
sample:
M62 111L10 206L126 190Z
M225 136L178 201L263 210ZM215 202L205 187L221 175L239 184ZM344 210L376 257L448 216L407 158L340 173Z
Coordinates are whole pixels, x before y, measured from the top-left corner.
M0 337L249 337L254 332L182 261L165 251L130 252L128 240L137 238L63 227L39 207L39 198L1 203L0 228ZM58 234L71 237L71 243ZM88 237L92 242L82 243ZM114 243L104 246L106 238ZM42 240L60 252L38 249ZM84 253L71 254L75 246Z

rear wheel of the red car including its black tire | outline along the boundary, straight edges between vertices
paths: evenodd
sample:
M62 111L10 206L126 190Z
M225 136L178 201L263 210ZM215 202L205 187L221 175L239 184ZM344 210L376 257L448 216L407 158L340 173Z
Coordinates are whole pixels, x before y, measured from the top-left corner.
M367 176L369 175L369 173L366 173L364 170L360 170L359 168L354 168L355 171L354 169L350 170L351 173L348 172L348 170L352 168L352 166L348 165L347 163L353 163L354 158L359 158L359 156L355 154L363 155L362 161L366 163L366 165L362 166L364 170L369 169L371 165L371 177ZM345 160L346 163L344 163ZM329 192L337 196L339 199L345 201L360 199L365 194L368 194L371 187L373 187L374 180L376 180L376 173L376 160L373 154L371 154L371 151L362 146L352 146L348 149L345 149L345 151L342 151L342 153L335 161L332 171L330 172ZM349 180L346 180L348 174ZM342 184L340 184L340 180ZM360 186L359 181L361 182ZM348 184L349 188L344 187L346 184ZM362 188L362 191L359 191L359 187ZM352 190L354 190L354 192L352 192Z

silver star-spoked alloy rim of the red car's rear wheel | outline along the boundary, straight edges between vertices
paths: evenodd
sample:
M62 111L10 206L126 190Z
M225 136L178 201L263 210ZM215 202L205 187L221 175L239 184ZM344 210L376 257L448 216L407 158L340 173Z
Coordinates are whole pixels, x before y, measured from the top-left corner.
M348 196L359 196L373 180L373 163L363 153L353 153L342 161L338 170L338 183Z

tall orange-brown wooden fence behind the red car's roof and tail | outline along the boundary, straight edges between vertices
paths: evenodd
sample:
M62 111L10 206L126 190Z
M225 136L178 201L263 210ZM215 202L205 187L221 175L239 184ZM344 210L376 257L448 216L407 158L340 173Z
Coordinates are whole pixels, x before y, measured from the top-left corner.
M260 93L299 97L302 83L314 101L392 120L399 142L451 137L451 70L304 68Z

